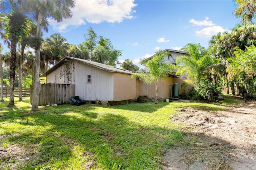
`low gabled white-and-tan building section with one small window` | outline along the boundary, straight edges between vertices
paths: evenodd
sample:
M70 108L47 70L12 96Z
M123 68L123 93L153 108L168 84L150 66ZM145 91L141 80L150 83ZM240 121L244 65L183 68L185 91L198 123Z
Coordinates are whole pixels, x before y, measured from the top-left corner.
M136 100L132 71L84 59L64 57L42 74L46 83L75 84L75 94L86 101L115 105Z

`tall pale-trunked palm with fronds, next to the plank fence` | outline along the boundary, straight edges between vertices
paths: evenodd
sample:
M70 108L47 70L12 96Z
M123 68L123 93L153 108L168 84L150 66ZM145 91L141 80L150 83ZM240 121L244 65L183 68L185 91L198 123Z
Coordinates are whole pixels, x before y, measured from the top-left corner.
M74 0L26 0L20 1L24 9L33 12L34 19L37 21L36 36L41 38L41 24L47 17L52 17L57 22L62 22L63 18L71 18L72 12L70 8L74 8ZM39 43L36 50L35 57L35 75L34 75L34 89L32 98L32 111L38 111L39 91L40 91L40 46Z

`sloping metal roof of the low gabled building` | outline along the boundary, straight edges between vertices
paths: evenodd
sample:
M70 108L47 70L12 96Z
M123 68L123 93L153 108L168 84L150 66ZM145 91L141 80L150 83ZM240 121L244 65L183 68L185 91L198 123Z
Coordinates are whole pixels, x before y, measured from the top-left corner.
M94 62L94 61L89 61L89 60L85 60L85 59L66 56L62 60L60 60L58 63L56 63L54 66L52 66L50 69L48 69L46 72L44 72L41 75L41 77L46 77L47 75L52 73L54 70L56 70L58 67L60 67L63 63L67 62L67 60L75 60L75 61L84 63L86 65L90 65L92 67L96 67L98 69L102 69L102 70L113 72L113 73L123 73L123 74L129 74L129 75L132 75L134 73L133 71L122 69L122 68L119 68L119 67L114 67L114 66L111 66L111 65L97 63L97 62Z

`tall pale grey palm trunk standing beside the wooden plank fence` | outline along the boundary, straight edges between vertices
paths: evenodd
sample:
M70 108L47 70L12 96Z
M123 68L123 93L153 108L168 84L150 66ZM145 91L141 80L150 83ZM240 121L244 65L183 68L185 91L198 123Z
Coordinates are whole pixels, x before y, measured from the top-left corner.
M36 36L41 37L41 24L42 24L43 14L40 10L37 18L37 27L36 27ZM36 49L35 56L35 74L34 74L34 89L33 89L33 98L32 98L32 111L38 111L39 103L39 92L40 92L40 81L39 81L39 70L40 70L40 47Z

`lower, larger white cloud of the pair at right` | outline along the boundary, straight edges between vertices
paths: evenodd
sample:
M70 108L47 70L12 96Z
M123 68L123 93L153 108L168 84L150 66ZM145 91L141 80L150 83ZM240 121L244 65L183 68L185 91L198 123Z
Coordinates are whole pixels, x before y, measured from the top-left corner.
M228 30L225 30L221 26L207 27L200 31L196 31L196 36L199 38L210 38L213 35L217 34L218 32L224 32L224 31L228 31Z

